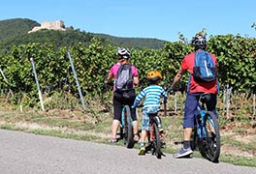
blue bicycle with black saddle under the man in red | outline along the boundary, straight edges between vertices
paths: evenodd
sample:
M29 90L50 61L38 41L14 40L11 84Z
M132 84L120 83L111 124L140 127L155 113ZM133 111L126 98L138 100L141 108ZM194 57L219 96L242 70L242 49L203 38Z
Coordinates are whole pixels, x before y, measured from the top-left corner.
M200 96L198 113L195 114L195 127L192 133L191 149L212 162L218 162L220 155L220 133L218 121L213 112L206 109L210 94Z

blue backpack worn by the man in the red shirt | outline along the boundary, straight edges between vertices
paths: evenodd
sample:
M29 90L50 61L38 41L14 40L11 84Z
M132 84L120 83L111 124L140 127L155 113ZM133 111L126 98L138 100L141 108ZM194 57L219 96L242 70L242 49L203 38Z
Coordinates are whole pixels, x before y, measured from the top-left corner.
M193 76L197 82L211 82L217 77L217 69L208 51L196 51Z

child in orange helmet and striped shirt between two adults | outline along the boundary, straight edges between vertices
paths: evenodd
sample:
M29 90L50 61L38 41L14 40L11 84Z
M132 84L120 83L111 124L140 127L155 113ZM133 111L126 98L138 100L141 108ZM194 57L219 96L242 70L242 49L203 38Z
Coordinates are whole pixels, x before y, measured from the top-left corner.
M144 99L144 116L142 121L139 155L145 154L146 131L149 131L149 114L157 113L160 110L161 97L163 97L164 103L167 102L167 93L158 85L162 78L162 74L157 71L147 73L146 79L149 81L149 86L145 87L144 90L136 97L133 105L133 107L138 107L139 103Z

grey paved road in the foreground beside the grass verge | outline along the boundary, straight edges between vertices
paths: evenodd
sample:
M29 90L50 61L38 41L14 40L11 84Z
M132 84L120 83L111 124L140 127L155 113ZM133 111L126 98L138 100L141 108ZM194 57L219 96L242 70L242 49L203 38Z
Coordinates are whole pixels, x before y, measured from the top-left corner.
M137 149L0 130L1 174L255 174L256 167L138 156Z

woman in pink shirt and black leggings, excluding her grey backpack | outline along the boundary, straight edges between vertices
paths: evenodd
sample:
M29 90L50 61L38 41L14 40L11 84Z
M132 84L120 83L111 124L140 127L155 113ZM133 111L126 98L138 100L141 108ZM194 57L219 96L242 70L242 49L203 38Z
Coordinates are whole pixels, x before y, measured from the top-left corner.
M117 63L114 64L111 68L111 71L108 76L107 84L112 82L114 79L114 83L116 80L116 75L118 73L118 69L121 65L130 64L129 58L131 56L131 52L128 48L117 48ZM133 102L136 98L135 89L134 87L139 84L139 73L138 70L134 65L131 66L132 70L132 78L133 78L133 89L127 92L127 96L123 95L123 92L120 92L115 89L115 85L113 85L113 120L112 120L112 137L110 142L116 142L116 132L120 127L121 122L121 112L122 112L122 105L128 104L133 105ZM138 120L136 116L136 109L131 108L131 117L133 119L133 126L134 126L134 140L135 142L139 141L138 135Z

